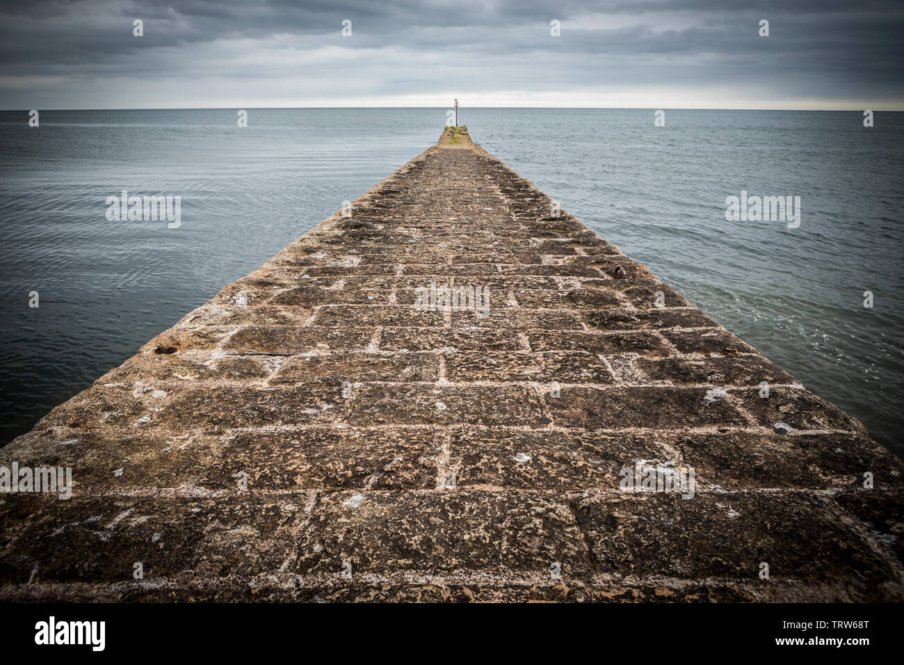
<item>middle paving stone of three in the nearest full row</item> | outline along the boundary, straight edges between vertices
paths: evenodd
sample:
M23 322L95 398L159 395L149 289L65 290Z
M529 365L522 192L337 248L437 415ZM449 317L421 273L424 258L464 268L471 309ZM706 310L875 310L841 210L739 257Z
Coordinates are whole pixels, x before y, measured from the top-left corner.
M297 573L341 577L420 570L586 573L589 556L569 504L509 491L337 492L322 497L298 545ZM479 562L479 563L478 563Z

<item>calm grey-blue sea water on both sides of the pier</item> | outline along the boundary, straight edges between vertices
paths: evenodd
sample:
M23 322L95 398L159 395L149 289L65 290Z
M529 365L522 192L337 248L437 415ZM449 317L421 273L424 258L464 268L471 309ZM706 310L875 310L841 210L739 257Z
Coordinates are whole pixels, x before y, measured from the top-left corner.
M0 111L0 442L435 143L446 109ZM899 455L904 114L462 109L491 153ZM182 225L105 200L182 196ZM799 228L725 197L799 195ZM28 307L29 292L40 307ZM874 307L863 307L863 292Z

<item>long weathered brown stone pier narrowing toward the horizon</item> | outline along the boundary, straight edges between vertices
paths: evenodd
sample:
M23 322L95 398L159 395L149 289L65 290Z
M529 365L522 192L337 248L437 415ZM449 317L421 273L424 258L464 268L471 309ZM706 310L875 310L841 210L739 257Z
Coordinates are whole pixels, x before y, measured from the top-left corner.
M904 595L897 458L466 128L14 463L73 483L0 494L5 601Z

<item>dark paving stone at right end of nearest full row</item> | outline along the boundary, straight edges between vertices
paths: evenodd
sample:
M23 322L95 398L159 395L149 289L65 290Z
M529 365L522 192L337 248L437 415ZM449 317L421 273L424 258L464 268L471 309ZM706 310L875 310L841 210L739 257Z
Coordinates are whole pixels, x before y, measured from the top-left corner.
M766 563L763 584L845 580L854 591L886 597L885 582L896 575L888 560L827 499L790 492L781 500L770 497L626 492L580 498L576 513L601 572L756 582Z

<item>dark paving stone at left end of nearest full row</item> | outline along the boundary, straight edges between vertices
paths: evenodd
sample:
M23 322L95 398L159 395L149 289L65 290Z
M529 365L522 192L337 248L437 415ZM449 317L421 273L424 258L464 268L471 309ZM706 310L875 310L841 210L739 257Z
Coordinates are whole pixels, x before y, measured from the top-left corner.
M257 575L283 565L303 506L303 497L250 495L51 499L25 522L3 519L15 548L0 553L0 575L7 583L136 586L136 564L144 582Z

